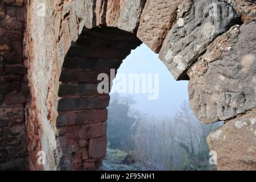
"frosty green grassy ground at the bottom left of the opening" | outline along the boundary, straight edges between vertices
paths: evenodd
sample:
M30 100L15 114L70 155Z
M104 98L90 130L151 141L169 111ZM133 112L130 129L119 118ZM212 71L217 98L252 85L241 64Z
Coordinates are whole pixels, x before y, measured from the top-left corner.
M139 171L140 167L136 164L123 164L127 153L120 150L107 149L106 159L102 164L102 171Z

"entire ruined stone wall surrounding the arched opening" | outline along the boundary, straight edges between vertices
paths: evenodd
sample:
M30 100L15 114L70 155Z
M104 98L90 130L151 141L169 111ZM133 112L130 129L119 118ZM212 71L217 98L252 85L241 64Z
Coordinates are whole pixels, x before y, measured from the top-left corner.
M23 1L0 2L0 114L8 123L0 134L27 138L30 169L99 168L109 95L96 92L97 75L118 68L138 39L159 53L176 80L190 80L191 108L201 122L225 121L208 137L218 169L256 169L255 1L34 0L25 1L26 9ZM18 63L10 61L16 53ZM1 156L8 156L1 165L15 162L11 153L25 148L22 141L14 150L1 142ZM38 164L39 151L46 164Z

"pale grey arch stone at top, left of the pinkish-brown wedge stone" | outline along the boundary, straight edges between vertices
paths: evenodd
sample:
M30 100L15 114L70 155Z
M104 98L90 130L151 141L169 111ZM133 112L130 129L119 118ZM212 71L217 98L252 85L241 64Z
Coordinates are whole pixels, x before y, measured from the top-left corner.
M137 31L139 18L146 0L126 0L118 19L118 28L128 32Z

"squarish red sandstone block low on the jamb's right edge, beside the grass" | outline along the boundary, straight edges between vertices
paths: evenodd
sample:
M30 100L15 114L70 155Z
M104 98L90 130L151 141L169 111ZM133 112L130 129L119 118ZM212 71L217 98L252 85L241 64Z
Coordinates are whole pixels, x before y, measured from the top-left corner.
M89 158L105 158L107 149L107 137L93 138L89 142Z

